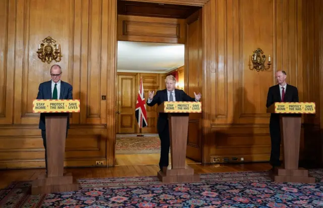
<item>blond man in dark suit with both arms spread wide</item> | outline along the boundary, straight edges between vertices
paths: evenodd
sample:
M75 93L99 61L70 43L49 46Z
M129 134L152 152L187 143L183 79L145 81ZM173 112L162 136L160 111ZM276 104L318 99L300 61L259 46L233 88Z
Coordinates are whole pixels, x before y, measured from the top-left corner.
M154 106L156 103L159 106L164 101L199 101L201 94L195 94L195 98L187 95L183 90L175 89L176 79L174 76L167 76L165 79L166 89L158 90L156 95L153 96L154 91L149 92L149 98L147 100L147 106ZM159 113L157 121L157 131L160 139L160 159L159 168L163 171L163 167L168 167L169 165L169 151L170 151L170 132L169 132L169 122L168 114Z

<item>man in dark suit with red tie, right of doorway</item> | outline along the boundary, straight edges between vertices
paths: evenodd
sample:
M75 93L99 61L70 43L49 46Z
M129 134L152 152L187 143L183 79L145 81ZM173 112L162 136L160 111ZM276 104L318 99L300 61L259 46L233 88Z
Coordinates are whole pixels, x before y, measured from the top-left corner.
M276 73L277 85L269 88L267 94L266 107L270 107L274 102L298 102L298 90L296 87L286 83L286 72L278 71ZM271 114L269 129L271 133L272 151L270 164L275 167L280 166L280 145L281 145L281 131L280 131L280 117L279 114Z

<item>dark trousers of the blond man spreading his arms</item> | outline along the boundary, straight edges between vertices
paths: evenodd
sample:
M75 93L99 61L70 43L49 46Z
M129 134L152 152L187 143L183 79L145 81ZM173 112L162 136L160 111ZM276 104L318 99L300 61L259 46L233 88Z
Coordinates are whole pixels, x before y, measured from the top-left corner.
M165 128L162 131L158 131L160 139L160 159L159 168L163 170L163 167L169 165L169 152L170 152L170 130L169 123L166 122Z

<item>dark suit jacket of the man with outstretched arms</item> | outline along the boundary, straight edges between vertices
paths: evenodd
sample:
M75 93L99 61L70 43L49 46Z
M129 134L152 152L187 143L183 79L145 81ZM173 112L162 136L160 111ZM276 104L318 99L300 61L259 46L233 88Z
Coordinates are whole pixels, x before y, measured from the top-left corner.
M175 89L175 99L176 101L195 101L195 98L190 97L181 89ZM147 99L147 106L154 106L156 103L159 106L161 103L168 101L167 89L158 90L153 96L152 101L148 103ZM159 113L158 121L157 121L157 130L161 132L164 130L165 126L167 125L168 114L167 113Z

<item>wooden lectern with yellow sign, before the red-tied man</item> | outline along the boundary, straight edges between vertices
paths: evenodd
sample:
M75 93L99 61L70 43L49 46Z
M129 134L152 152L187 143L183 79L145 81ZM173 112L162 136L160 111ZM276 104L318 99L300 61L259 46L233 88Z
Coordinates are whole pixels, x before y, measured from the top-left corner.
M284 141L284 167L270 176L276 182L315 183L308 170L298 167L301 115L315 114L314 102L275 102L267 113L279 114L281 138Z

